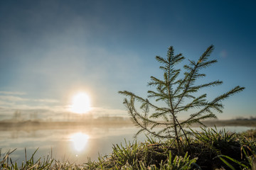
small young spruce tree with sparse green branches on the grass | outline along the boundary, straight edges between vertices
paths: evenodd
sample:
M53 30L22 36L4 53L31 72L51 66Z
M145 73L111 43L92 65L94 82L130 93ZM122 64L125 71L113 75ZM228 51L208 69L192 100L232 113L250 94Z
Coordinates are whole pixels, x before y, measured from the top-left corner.
M207 84L196 85L196 80L201 77L206 77L200 71L217 60L208 60L210 53L213 51L213 45L207 48L206 52L199 57L198 61L189 61L183 69L183 78L179 78L181 69L177 69L177 64L182 62L185 57L182 54L174 55L174 47L169 47L167 57L156 56L156 60L160 62L164 71L164 79L151 77L149 86L155 86L155 91L148 91L148 97L142 98L129 91L119 91L119 94L129 97L124 98L124 105L130 115L130 118L135 125L139 127L139 131L154 135L155 137L174 138L178 152L181 151L181 135L185 135L183 128L193 123L200 123L208 118L216 118L213 111L223 112L222 101L229 96L238 93L245 89L244 87L236 86L225 94L222 94L212 101L208 101L206 94L198 94L203 88L210 86L218 86L223 84L223 81L212 81ZM152 103L149 99L154 98L156 102ZM135 107L135 101L141 103L140 110ZM163 101L165 106L156 106L155 103ZM152 110L149 112L149 109ZM190 111L190 112L188 112ZM186 120L182 122L178 120L178 113L191 113ZM161 127L161 130L156 130L156 127Z

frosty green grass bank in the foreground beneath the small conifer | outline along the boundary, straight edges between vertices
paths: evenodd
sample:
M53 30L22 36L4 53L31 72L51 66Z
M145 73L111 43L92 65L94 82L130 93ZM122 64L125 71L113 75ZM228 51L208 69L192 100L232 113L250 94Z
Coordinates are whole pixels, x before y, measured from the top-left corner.
M26 159L18 166L10 151L0 158L0 169L256 169L256 130L240 134L224 129L192 131L188 141L181 137L183 153L178 155L174 140L125 142L113 145L112 153L84 164L59 162L49 156ZM26 154L25 154L26 157Z

